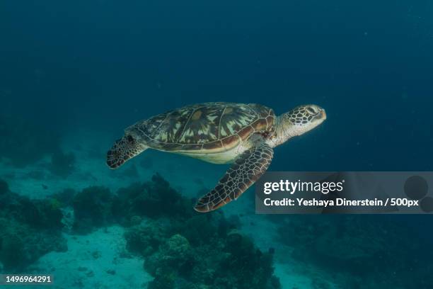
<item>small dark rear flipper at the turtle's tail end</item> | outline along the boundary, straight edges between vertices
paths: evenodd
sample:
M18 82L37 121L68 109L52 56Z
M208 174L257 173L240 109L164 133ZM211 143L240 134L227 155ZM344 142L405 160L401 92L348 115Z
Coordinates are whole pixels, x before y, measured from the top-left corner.
M112 148L107 152L107 165L110 169L117 169L127 160L142 153L147 147L140 144L134 137L126 135L120 140L117 140Z

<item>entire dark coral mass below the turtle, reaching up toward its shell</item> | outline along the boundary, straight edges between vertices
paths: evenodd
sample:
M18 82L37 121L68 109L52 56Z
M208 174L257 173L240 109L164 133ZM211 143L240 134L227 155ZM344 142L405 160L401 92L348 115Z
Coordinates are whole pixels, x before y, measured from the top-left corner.
M272 253L256 248L221 212L194 212L161 176L117 193L117 213L152 218L125 233L127 249L146 257L144 269L154 276L149 288L280 288Z

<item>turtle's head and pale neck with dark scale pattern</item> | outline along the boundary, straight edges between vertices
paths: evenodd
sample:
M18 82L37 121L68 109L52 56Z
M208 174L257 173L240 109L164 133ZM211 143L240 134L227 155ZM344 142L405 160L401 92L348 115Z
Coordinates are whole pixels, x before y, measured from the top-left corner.
M280 115L277 125L278 144L313 130L325 120L325 110L314 104L298 106Z

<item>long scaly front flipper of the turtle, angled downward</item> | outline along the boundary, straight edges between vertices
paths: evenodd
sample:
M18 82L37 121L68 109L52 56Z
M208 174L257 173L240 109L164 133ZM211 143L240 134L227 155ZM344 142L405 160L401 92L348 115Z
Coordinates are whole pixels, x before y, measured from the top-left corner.
M269 167L274 151L265 142L260 142L236 159L217 186L197 201L197 212L209 212L236 200Z

